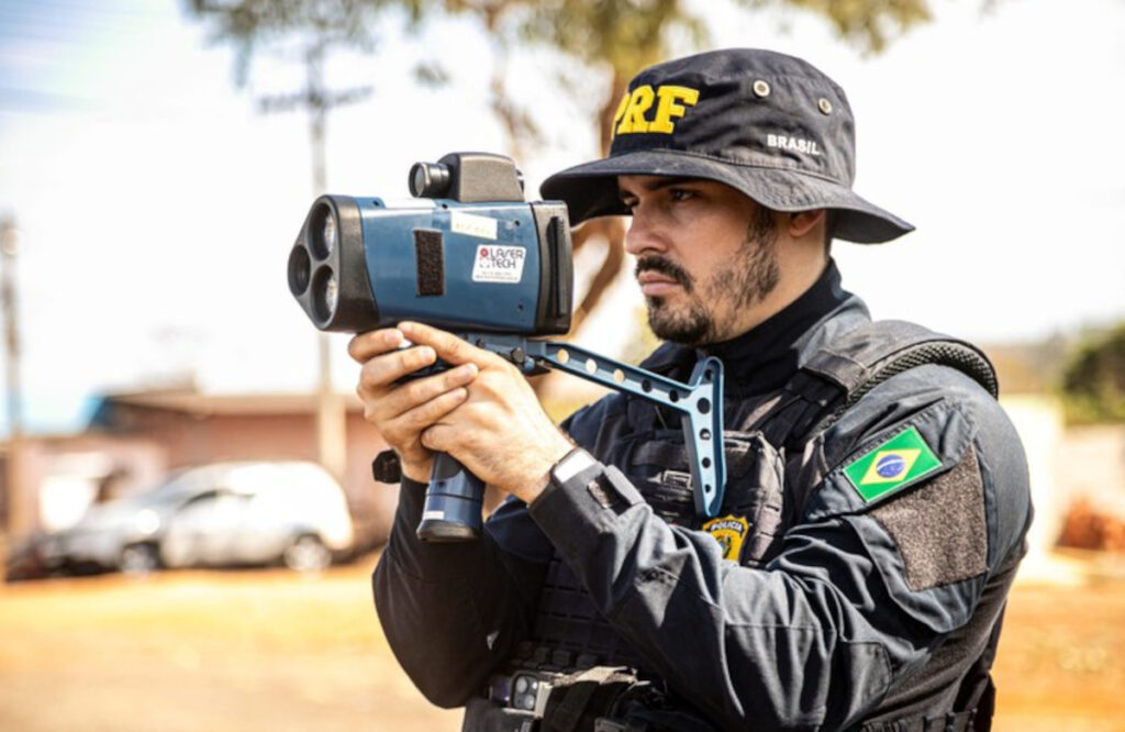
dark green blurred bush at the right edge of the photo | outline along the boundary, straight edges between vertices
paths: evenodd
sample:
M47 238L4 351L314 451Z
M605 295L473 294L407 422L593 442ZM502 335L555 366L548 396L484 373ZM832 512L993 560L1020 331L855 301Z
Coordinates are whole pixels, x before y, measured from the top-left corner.
M1078 349L1062 390L1069 421L1125 422L1125 323Z

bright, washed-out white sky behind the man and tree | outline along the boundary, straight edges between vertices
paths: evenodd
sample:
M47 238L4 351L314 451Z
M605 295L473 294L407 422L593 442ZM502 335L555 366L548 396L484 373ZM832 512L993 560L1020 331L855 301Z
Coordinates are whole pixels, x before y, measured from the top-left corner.
M711 47L803 56L846 90L855 189L918 227L890 244L834 246L845 286L876 318L989 343L1125 318L1125 145L1114 132L1125 3L930 5L933 23L879 55L812 16L695 7ZM476 26L444 20L411 37L388 20L376 35L374 54L328 66L334 88L372 88L330 117L331 193L402 198L417 160L505 150L487 108L492 44ZM421 59L449 83L415 84ZM174 0L0 0L0 216L19 227L30 429L75 429L91 396L187 377L212 393L314 389L316 333L285 284L313 200L308 122L255 105L298 89L302 69L261 57L241 89L233 69L232 51ZM543 128L543 148L519 161L529 191L595 157L587 119L601 77L524 48L508 84ZM579 341L612 341L636 291L622 277ZM345 346L333 337L333 377L351 391Z

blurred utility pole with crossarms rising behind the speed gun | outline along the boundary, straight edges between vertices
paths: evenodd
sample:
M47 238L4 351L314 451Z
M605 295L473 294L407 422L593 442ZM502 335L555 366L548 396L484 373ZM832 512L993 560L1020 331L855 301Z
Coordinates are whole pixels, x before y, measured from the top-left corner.
M263 113L288 111L304 107L309 117L309 141L313 151L313 195L327 189L325 163L325 120L333 107L360 101L371 93L370 87L328 91L324 83L324 52L328 39L316 38L305 52L305 89L292 95L266 97L259 100ZM328 334L317 334L320 378L316 392L316 450L320 463L338 480L342 480L348 458L348 412L342 394L332 387L332 342Z

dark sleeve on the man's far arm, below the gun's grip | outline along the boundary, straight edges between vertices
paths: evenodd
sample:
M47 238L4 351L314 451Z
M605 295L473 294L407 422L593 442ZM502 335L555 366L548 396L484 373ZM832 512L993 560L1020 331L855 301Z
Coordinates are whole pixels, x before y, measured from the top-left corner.
M570 420L562 429L570 427ZM530 634L554 547L514 498L474 542L417 538L426 486L404 477L390 538L372 577L375 605L395 658L432 703L479 695Z

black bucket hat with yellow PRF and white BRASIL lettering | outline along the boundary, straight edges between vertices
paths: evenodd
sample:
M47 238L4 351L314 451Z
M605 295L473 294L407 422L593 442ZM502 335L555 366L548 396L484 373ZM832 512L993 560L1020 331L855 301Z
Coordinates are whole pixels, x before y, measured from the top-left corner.
M883 242L914 230L852 191L855 123L844 90L781 53L731 48L649 66L630 82L610 155L548 178L570 220L628 214L616 176L704 178L774 211L828 208L831 235Z

